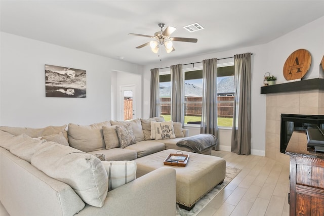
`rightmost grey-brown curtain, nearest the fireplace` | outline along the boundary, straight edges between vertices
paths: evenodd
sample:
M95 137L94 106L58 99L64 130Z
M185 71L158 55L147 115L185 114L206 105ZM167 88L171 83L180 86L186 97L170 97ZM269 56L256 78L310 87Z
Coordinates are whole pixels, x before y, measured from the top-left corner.
M234 111L231 152L251 154L251 53L234 56Z

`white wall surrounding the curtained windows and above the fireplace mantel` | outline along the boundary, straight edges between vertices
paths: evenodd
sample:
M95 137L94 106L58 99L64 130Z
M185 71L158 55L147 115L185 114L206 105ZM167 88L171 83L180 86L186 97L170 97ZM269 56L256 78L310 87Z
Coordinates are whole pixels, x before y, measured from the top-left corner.
M265 113L266 98L260 94L260 87L263 86L263 78L266 72L278 77L278 83L284 81L282 68L288 56L298 49L306 49L312 55L312 66L305 78L318 77L318 65L324 54L324 17L317 19L289 34L281 36L268 44L254 47L239 48L226 52L215 52L194 58L175 59L173 61L163 60L157 64L147 65L143 72L143 101L149 102L150 69L168 67L173 64L187 64L199 62L210 58L224 58L241 53L253 53L252 55L252 139L251 152L256 155L265 155ZM172 53L171 53L172 54ZM219 60L224 63L231 60ZM195 64L196 66L196 64ZM198 65L197 65L198 66ZM143 106L143 117L149 115L149 105ZM230 133L220 130L221 149L230 149Z

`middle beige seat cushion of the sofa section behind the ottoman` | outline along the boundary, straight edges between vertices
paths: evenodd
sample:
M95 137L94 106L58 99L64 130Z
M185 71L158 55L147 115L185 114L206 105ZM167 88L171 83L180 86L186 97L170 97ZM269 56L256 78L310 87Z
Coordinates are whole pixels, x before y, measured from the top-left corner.
M137 158L144 157L166 149L164 143L153 142L151 140L141 141L136 144L127 146L125 149L134 150L137 152Z

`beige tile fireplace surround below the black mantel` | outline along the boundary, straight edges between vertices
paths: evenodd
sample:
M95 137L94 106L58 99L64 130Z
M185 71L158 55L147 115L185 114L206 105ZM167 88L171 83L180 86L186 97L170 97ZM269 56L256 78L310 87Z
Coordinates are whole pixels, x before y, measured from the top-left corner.
M289 156L280 153L281 113L324 115L324 91L319 90L320 88L266 95L265 155L267 157L289 163Z

